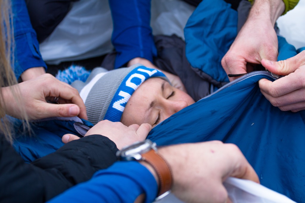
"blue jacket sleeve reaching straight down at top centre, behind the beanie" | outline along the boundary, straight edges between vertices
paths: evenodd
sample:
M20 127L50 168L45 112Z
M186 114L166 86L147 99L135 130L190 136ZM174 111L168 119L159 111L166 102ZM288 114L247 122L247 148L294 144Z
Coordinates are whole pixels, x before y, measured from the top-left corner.
M117 51L114 68L133 58L152 62L157 55L150 27L150 0L109 0L113 19L112 44Z

